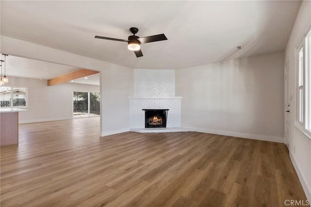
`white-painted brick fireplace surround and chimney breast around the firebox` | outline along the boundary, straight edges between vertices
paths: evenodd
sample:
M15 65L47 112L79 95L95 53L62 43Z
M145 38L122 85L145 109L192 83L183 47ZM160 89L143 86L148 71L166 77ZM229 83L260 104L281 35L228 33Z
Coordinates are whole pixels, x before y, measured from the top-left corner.
M181 98L175 96L175 70L135 69L134 96L129 97L131 131L146 127L143 109L167 109L166 128L180 127Z

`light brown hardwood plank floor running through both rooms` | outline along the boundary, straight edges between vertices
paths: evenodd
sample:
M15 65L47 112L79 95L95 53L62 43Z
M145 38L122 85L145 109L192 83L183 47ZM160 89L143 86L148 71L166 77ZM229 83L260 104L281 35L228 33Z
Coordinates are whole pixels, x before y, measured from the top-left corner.
M306 200L284 144L181 132L99 137L99 118L19 126L1 207L281 207Z

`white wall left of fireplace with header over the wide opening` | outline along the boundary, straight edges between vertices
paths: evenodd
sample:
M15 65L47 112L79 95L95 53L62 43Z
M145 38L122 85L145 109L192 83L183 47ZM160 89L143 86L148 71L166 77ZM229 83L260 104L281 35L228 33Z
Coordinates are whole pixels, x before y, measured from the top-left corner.
M0 52L101 71L101 135L129 131L128 97L133 96L134 69L3 35L0 36ZM124 113L115 117L118 114L114 112Z

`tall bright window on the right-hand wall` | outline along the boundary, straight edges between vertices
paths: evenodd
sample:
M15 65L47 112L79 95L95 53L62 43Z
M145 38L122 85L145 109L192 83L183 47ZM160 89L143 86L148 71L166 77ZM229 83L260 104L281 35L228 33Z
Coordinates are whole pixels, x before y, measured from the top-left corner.
M297 121L303 130L311 133L311 30L304 36L297 53L298 90Z

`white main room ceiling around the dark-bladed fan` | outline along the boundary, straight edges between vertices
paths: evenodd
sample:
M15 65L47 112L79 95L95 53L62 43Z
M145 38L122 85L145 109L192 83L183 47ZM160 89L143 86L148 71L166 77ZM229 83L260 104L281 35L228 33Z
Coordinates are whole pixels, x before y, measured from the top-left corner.
M177 69L284 51L301 1L1 1L1 35L131 68ZM164 33L136 58L126 39ZM242 51L235 47L241 45Z

